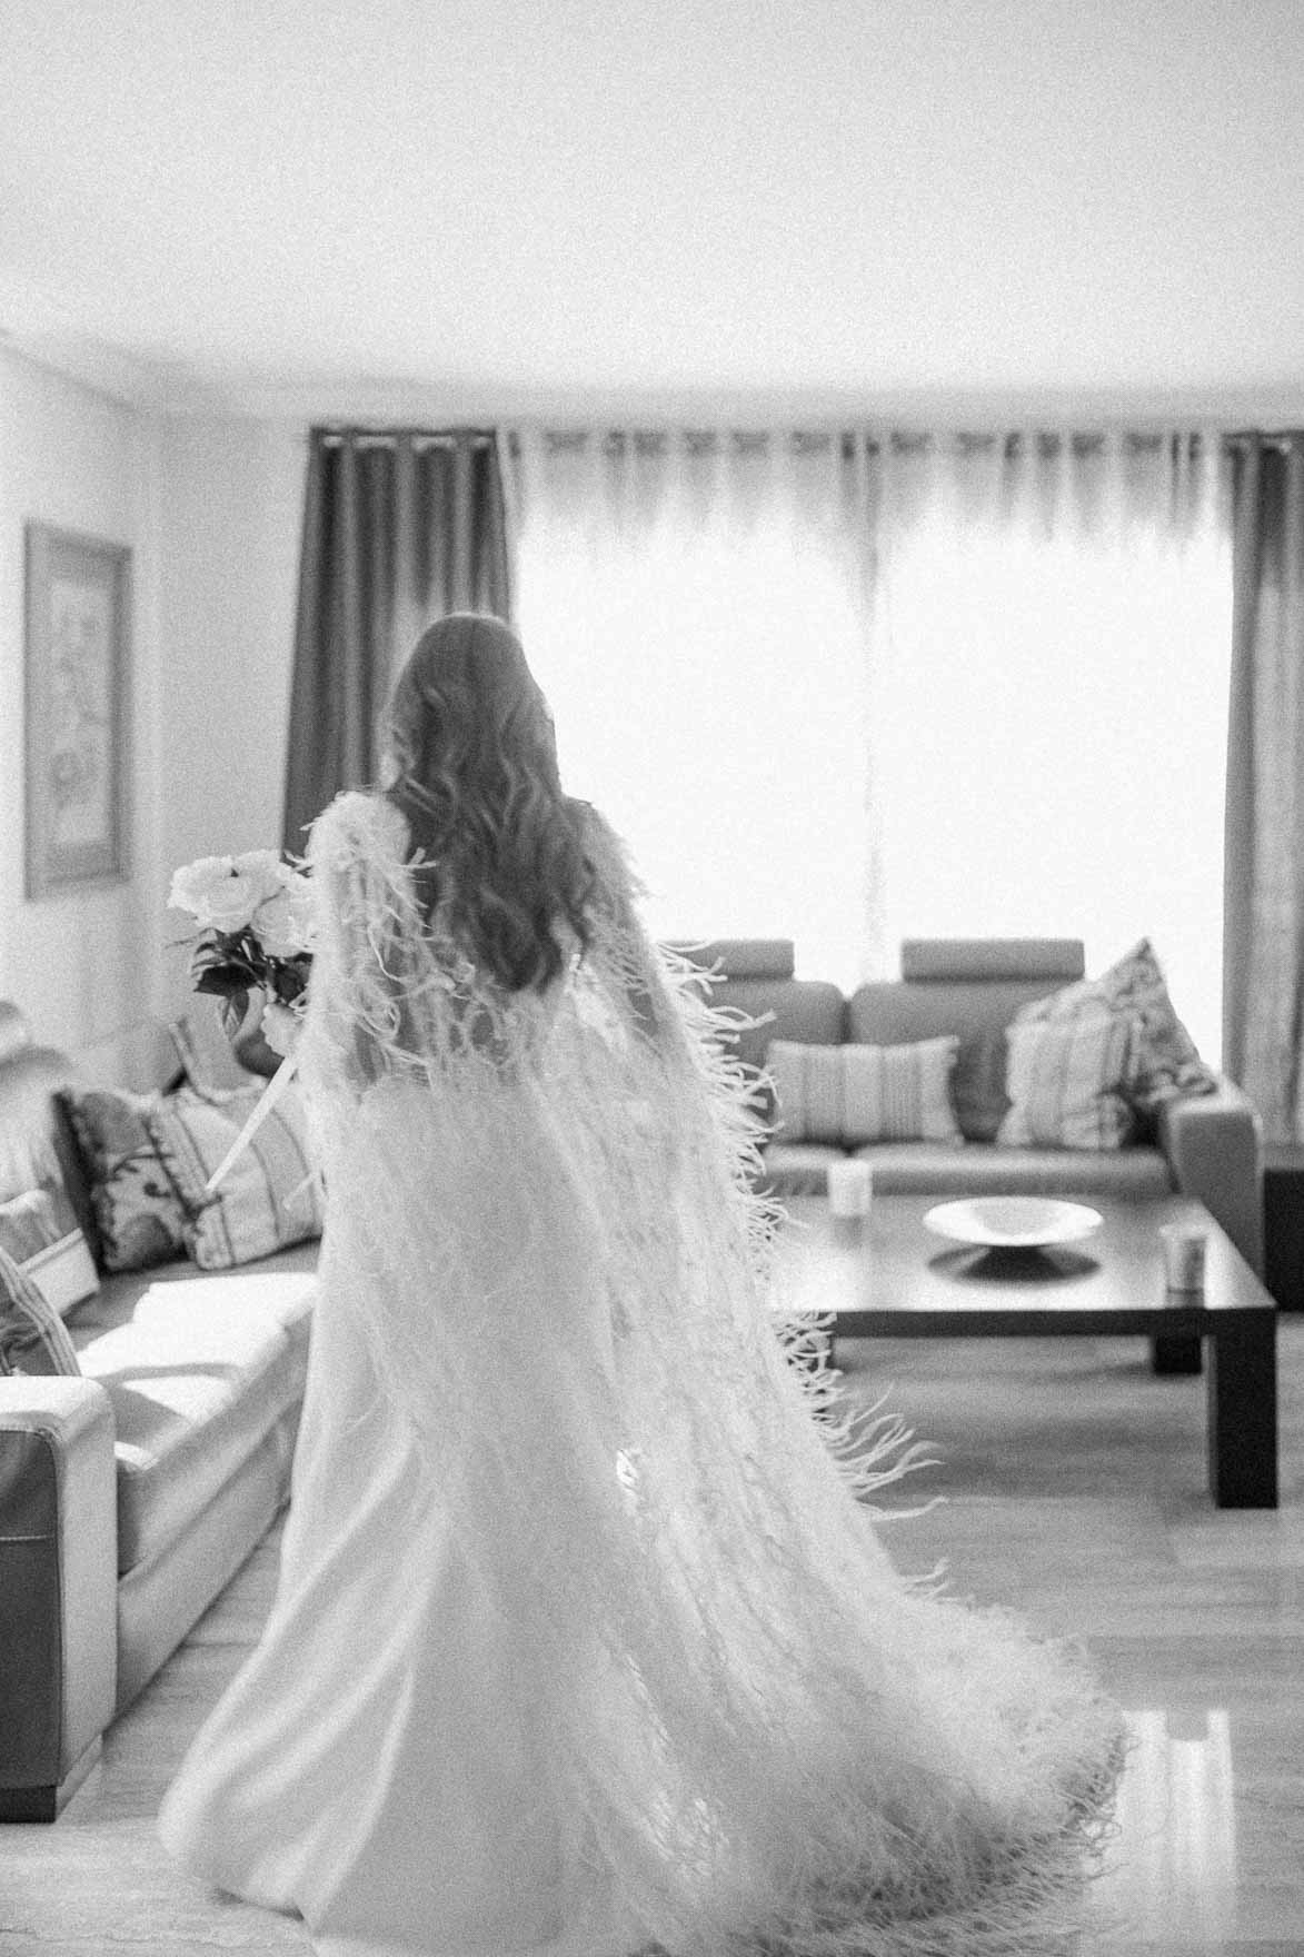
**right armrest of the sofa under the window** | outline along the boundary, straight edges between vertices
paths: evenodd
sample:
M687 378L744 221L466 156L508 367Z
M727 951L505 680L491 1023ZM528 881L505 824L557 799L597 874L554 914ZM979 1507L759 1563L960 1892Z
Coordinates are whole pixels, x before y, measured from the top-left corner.
M1234 1080L1214 1094L1163 1102L1159 1147L1183 1196L1204 1204L1257 1276L1263 1276L1263 1123Z

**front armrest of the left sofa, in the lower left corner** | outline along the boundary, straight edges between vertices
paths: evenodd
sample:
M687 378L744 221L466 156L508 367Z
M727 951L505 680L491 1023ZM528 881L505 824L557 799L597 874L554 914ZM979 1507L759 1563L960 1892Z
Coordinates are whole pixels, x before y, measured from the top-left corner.
M0 1816L53 1820L117 1693L114 1413L94 1380L0 1378Z

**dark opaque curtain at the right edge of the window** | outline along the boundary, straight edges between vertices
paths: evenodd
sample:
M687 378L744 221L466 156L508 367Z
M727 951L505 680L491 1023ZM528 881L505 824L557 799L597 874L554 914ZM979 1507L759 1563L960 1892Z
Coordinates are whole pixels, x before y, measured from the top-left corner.
M1304 432L1230 442L1224 1057L1269 1141L1304 1139Z

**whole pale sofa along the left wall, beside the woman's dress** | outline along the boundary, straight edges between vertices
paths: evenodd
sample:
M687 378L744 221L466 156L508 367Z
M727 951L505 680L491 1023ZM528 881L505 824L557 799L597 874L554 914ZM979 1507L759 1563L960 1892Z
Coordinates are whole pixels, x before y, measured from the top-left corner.
M0 1002L0 1204L51 1157L96 1217L57 1090L84 1076ZM74 1376L0 1376L0 1820L53 1820L100 1736L290 1491L317 1243L104 1276Z

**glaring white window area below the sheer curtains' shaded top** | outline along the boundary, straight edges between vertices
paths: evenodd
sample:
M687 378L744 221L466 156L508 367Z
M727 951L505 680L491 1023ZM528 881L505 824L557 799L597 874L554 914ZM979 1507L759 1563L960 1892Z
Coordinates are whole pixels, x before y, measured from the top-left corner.
M597 554L527 528L521 626L566 787L630 843L660 935L795 937L850 988L877 834L887 973L905 935L1085 937L1093 973L1149 935L1218 1059L1220 542L957 550L924 524L869 654L846 569L777 526Z

